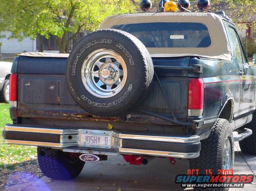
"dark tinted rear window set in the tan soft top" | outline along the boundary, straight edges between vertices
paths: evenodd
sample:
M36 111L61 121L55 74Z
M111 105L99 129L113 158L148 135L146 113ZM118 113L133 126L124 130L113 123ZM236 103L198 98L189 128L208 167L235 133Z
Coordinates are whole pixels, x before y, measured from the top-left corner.
M112 27L140 39L148 48L206 48L211 45L203 23L133 23Z

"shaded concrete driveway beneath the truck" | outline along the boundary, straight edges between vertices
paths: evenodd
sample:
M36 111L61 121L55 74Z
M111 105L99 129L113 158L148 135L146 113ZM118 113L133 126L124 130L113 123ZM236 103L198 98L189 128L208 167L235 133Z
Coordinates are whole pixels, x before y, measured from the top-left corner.
M235 174L256 172L256 156L241 154L237 143L235 150ZM165 158L157 158L147 165L135 166L126 163L122 156L109 157L100 163L86 163L82 173L72 181L42 177L36 182L12 186L8 191L182 191L174 179L187 169L188 161L184 159L176 159L172 165ZM243 189L230 189L240 190L255 191L256 177Z

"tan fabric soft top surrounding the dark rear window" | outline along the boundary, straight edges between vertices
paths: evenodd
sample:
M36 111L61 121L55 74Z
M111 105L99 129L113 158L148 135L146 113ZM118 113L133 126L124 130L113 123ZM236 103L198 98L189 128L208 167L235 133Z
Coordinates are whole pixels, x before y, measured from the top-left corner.
M207 48L148 48L151 57L200 56L221 60L232 60L222 18L213 13L140 13L113 15L106 18L100 29L119 24L157 22L203 23L207 26L212 44Z

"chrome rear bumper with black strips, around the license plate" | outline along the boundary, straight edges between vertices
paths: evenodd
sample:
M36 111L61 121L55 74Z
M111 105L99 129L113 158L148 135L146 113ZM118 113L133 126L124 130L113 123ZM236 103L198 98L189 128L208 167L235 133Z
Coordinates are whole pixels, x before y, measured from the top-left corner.
M66 152L106 155L138 154L196 158L201 149L198 135L178 137L124 134L115 130L110 132L111 149L82 147L80 143L81 129L49 129L7 124L3 131L3 137L6 144L32 145L63 149Z

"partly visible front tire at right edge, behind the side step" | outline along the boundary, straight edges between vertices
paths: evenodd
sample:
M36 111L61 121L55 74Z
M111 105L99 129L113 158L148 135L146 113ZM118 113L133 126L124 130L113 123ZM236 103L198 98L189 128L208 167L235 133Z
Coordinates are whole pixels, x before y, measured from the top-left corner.
M252 130L252 135L239 141L239 146L244 154L256 154L256 113L253 113L253 118L250 123L244 126Z

